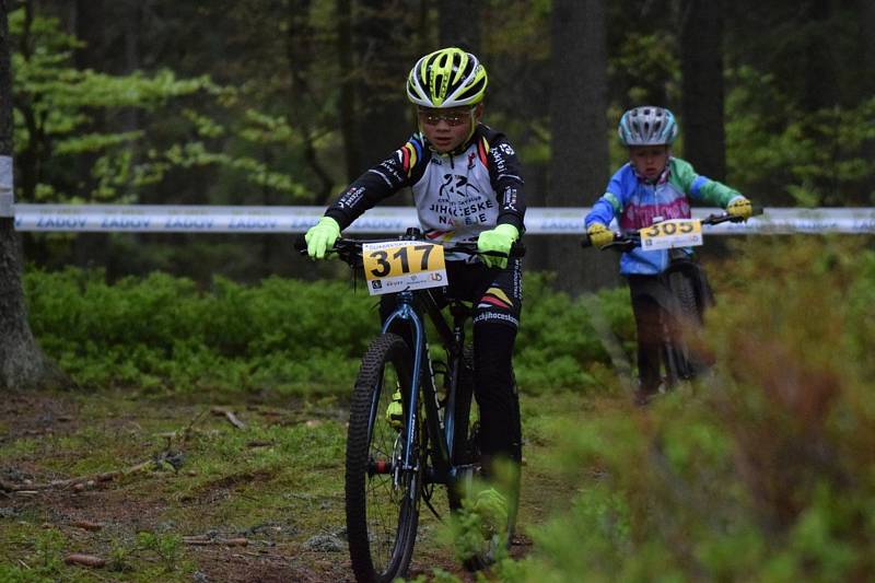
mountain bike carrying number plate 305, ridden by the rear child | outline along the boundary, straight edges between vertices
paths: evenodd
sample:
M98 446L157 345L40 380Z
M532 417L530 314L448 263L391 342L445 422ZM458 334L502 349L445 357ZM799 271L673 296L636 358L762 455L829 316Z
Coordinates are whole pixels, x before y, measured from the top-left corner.
M755 208L754 214L762 214ZM689 338L698 340L704 325L703 315L713 303L710 287L701 268L682 250L703 244L702 226L724 222L742 222L745 219L728 213L711 214L704 219L673 219L629 233L614 233L614 242L603 249L628 252L637 247L644 249L668 249L670 263L660 275L650 295L656 306L661 348L660 361L662 386L670 390L681 381L690 381L708 370L709 363L690 349ZM587 235L581 242L591 247Z

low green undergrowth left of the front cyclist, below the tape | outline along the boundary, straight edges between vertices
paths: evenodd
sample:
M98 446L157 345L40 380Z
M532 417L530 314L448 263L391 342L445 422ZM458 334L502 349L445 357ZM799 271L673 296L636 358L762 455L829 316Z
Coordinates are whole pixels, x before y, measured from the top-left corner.
M201 291L162 273L109 285L67 269L32 271L25 289L43 349L90 387L348 386L376 328L372 302L339 282L217 278Z

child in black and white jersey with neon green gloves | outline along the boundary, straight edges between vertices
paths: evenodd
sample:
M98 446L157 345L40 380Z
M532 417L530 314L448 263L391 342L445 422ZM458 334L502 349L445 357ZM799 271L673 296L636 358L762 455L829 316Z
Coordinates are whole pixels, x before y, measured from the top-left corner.
M412 190L427 237L477 240L478 250L506 255L524 231L523 179L508 139L480 123L486 89L486 69L470 53L451 47L419 59L407 79L418 131L355 179L307 231L310 256L324 258L341 230L404 187ZM521 268L518 258L447 255L445 296L475 305L476 397L487 476L494 469L490 460L521 458L521 435L509 430L518 427L512 354L523 300ZM382 304L384 315L387 305ZM483 505L493 506L494 498Z

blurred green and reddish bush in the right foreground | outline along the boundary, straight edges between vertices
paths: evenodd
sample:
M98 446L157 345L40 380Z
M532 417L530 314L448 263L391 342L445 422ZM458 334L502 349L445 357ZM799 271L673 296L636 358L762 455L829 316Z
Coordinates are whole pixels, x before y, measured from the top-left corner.
M713 269L693 390L553 428L579 485L516 580L852 581L875 545L875 253L772 241ZM738 254L740 256L743 254Z

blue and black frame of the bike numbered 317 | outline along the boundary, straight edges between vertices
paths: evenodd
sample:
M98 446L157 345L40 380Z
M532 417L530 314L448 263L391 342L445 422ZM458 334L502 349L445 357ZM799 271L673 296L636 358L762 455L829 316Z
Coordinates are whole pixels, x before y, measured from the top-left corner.
M422 316L417 312L413 306L416 298L419 298L425 307L425 312L438 329L439 335L443 341L444 347L447 349L451 362L447 362L447 371L452 371L453 376L450 380L447 400L444 408L443 427L440 419L438 403L438 389L434 386L434 374L431 366L431 358L428 351L428 339L425 337L425 323ZM452 305L452 304L451 304ZM456 387L458 382L459 362L462 360L462 347L464 346L465 333L464 322L467 318L458 310L453 310L455 326L450 328L441 310L438 307L434 299L430 293L415 293L411 291L398 292L396 296L396 306L393 312L386 317L383 324L383 333L390 331L397 326L407 326L412 333L413 346L413 369L411 371L410 387L408 388L408 408L407 417L405 419L406 440L404 444L404 452L401 455L401 470L412 471L418 468L415 467L412 460L413 455L413 440L416 431L416 416L419 411L419 396L422 389L425 408L425 421L428 423L429 435L432 436L436 445L436 455L432 456L434 464L433 474L425 476L427 482L433 483L451 483L455 479L457 468L453 465L454 453L454 430L455 430L455 397ZM422 375L423 369L428 368L428 374ZM378 395L377 395L378 396ZM372 411L376 415L376 404L372 407ZM375 419L371 419L370 423L373 425Z

